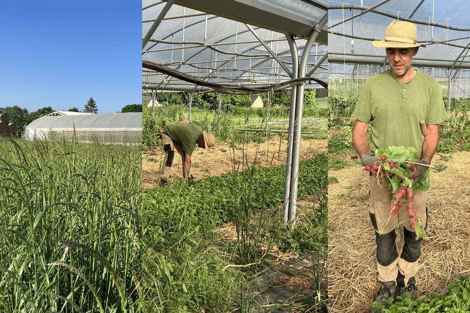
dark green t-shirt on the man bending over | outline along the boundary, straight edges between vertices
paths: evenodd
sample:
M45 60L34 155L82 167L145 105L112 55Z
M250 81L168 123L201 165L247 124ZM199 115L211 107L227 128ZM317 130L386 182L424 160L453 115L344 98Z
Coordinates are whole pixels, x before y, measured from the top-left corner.
M163 127L163 131L183 147L183 151L191 155L196 148L202 128L192 122L188 124L173 123Z

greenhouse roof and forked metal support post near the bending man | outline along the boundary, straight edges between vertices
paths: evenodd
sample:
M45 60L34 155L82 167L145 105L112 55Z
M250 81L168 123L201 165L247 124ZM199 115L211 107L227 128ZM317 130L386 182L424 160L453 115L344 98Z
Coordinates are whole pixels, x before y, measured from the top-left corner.
M292 88L286 221L295 218L304 89L327 87L326 22L326 1L317 0L143 2L143 92L186 92L187 119L198 93L218 93L210 109L220 121L224 94L266 92L269 133L271 94Z

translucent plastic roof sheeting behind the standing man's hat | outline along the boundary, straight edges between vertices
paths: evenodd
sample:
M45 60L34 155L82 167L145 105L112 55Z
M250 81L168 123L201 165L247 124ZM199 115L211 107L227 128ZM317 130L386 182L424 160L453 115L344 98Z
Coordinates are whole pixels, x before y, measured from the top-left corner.
M390 0L359 17L345 21L379 3L379 0L351 0L348 3L328 1L330 62L385 64L385 49L373 47L372 39L383 40L387 26L399 17L413 21L417 26L418 42L427 44L427 47L419 48L413 58L415 66L470 68L470 10L463 6L463 1L436 0L421 3L420 0ZM361 5L363 9L359 10ZM441 26L433 26L433 22ZM356 37L353 53L350 36Z

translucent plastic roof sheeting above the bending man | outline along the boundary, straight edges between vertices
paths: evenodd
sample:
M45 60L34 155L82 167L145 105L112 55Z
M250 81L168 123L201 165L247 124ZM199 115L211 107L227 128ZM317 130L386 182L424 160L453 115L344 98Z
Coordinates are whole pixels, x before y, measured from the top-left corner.
M286 33L301 36L296 38L300 54L306 43L305 34L311 31L321 17L326 14L325 0L231 0L224 12L217 11L220 6L213 6L208 14L191 8L178 6L183 1L176 1L165 18L161 21L150 40L143 48L143 60L169 67L191 77L209 83L224 85L261 87L289 80L290 77L283 67L270 55L268 50L249 30L253 27L256 34L269 46L269 49L282 60L292 71L292 57ZM187 2L190 4L193 2ZM204 3L204 1L194 2ZM234 3L252 6L250 12L239 12L241 7ZM149 33L151 26L160 15L166 2L155 0L143 1L143 38ZM207 8L206 8L207 9ZM223 7L218 8L219 10ZM266 12L263 13L263 10ZM254 12L260 13L259 15ZM240 16L245 13L243 21ZM225 17L220 17L219 14ZM280 16L282 25L275 25L266 20L266 16ZM297 20L296 20L297 17ZM233 19L229 19L233 18ZM238 18L239 21L234 19ZM251 20L250 20L251 19ZM264 23L263 23L264 22ZM299 23L306 25L301 34ZM278 21L280 23L280 21ZM257 25L263 25L261 28ZM267 29L269 27L270 29ZM318 40L319 39L319 40ZM327 39L326 26L317 41L324 43ZM326 53L326 45L314 44L309 51L307 72L316 64L321 55ZM326 81L327 62L311 76ZM307 88L319 87L308 84ZM202 91L207 87L192 82L164 75L153 70L143 69L143 89Z

